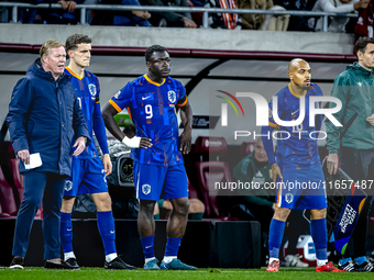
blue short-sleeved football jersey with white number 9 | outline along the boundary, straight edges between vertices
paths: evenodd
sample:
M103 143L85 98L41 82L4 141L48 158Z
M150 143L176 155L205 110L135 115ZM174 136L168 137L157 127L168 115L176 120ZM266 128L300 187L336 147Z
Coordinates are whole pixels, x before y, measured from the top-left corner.
M157 83L144 75L130 81L109 103L118 112L127 108L136 135L152 139L151 148L132 149L134 160L156 166L184 164L175 111L176 105L187 103L186 90L180 81L168 77Z

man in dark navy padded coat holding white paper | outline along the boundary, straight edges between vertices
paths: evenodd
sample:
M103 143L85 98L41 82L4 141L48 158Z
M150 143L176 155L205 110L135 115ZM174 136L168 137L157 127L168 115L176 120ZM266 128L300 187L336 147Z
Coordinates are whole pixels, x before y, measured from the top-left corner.
M15 223L11 268L23 268L31 227L43 202L45 268L64 268L61 256L59 215L65 178L73 156L89 139L70 78L64 75L66 52L56 40L46 41L41 58L18 81L7 122L11 142L24 177L23 200Z

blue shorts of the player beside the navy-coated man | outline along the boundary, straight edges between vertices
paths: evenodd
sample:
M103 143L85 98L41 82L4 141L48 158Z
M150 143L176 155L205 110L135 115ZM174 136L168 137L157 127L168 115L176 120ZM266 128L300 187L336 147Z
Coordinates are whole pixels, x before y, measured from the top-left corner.
M107 176L99 157L78 159L73 157L72 177L65 181L64 195L108 192Z

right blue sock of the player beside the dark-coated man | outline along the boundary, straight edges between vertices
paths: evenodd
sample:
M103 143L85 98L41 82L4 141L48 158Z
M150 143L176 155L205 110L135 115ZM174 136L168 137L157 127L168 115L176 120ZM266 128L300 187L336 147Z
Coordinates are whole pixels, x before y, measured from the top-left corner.
M106 256L117 253L114 219L111 211L97 212L98 228L101 235Z

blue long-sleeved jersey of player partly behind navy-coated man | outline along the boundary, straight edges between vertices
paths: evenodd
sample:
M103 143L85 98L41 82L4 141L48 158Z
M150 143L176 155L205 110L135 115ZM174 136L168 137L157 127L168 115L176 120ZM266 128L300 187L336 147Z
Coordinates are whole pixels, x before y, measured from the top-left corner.
M106 128L100 110L100 85L98 78L87 70L84 70L84 76L79 77L68 67L65 68L65 74L72 77L70 80L85 116L88 133L91 137L91 144L85 148L78 158L87 159L98 156L94 142L94 132L102 153L109 154Z

